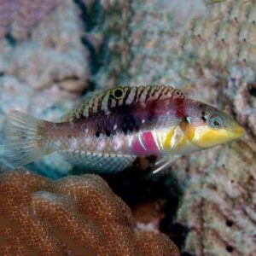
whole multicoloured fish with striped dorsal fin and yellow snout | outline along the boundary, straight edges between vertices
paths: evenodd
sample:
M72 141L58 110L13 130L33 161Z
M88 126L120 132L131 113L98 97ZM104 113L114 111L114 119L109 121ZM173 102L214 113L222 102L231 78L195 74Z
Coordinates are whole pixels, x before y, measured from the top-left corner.
M6 158L25 166L59 152L75 165L120 172L154 155L154 173L183 154L240 138L245 130L218 108L171 85L116 86L50 122L11 110L4 125Z

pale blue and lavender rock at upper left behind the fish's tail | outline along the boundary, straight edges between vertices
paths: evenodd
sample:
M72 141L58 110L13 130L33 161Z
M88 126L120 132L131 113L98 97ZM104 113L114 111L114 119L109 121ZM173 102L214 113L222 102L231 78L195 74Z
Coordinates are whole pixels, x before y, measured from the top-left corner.
M1 147L3 119L10 109L43 119L61 118L87 88L89 75L79 9L73 1L0 1L0 30L5 25L8 31L0 37ZM60 162L61 172L71 170L56 156L38 162L34 169L57 170ZM6 163L2 148L0 163Z

